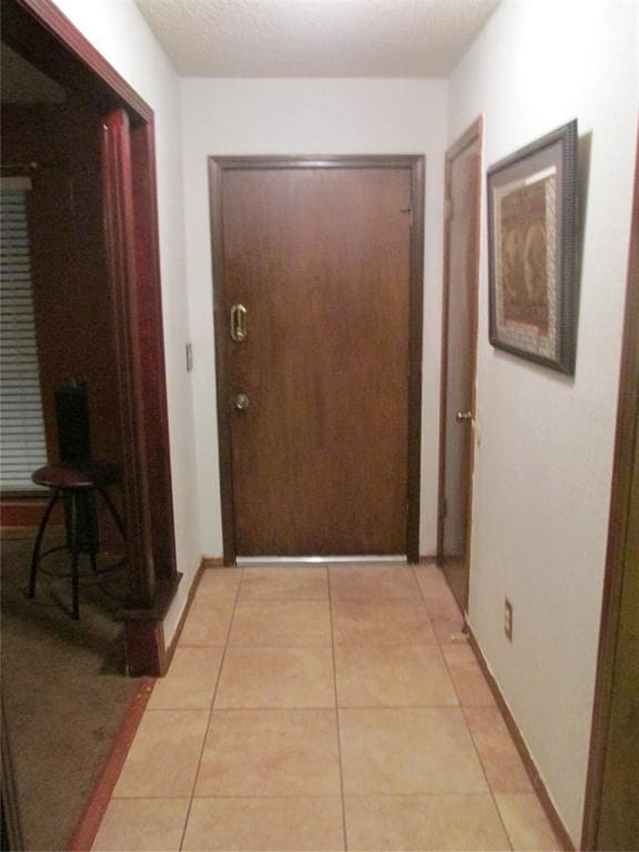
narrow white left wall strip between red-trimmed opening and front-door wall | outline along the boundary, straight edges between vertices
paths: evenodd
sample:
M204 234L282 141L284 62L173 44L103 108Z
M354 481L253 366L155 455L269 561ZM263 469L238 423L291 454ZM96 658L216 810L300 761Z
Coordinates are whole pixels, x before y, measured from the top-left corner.
M185 285L180 79L132 0L55 0L57 6L149 103L155 114L160 264L178 568L185 577L166 618L175 630L200 562L192 388L185 372L189 341Z

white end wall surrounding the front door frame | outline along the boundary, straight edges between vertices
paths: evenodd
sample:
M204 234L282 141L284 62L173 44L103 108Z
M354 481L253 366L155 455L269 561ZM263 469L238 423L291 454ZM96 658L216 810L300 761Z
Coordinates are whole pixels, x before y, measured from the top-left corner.
M420 552L435 551L446 100L443 80L183 81L189 302L204 554L222 554L206 172L206 158L212 154L426 155Z

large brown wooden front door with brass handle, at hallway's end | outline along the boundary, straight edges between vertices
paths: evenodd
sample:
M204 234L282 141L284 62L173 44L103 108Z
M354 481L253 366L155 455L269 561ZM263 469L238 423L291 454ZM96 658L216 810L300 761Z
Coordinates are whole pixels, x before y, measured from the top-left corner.
M226 557L407 552L417 160L212 161Z

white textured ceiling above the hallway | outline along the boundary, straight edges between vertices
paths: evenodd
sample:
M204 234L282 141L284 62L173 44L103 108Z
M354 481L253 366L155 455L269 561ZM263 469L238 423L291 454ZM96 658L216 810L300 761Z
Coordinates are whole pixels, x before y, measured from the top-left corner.
M446 77L498 0L135 0L185 77Z

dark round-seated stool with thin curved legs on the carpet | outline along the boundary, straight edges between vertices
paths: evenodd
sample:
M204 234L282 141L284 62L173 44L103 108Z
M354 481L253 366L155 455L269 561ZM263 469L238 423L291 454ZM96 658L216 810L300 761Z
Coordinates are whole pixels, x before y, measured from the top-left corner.
M79 538L79 517L80 513L84 514L84 517L89 519L87 528L89 530L89 556L91 558L91 568L98 574L98 565L95 561L95 535L93 526L93 506L92 497L99 494L106 508L111 513L115 526L122 540L126 541L126 534L124 531L124 525L118 514L113 501L106 493L106 488L110 485L119 483L121 479L120 468L116 465L104 464L100 462L88 462L87 464L69 464L58 463L53 465L45 465L39 468L32 475L31 479L36 485L43 485L47 488L52 488L53 494L44 511L44 516L38 528L38 535L36 536L36 544L33 545L33 555L31 557L31 577L29 581L29 597L36 597L36 579L38 576L38 568L40 561L52 554L54 550L69 550L71 554L71 584L72 584L72 600L73 600L73 618L80 618L80 574L79 574L79 557L82 550L82 542ZM60 499L60 497L68 499L68 506L70 511L70 520L67 527L67 542L59 547L52 547L40 555L40 547L42 545L42 537L47 529L47 524L53 511L53 507ZM43 569L44 570L44 569Z

